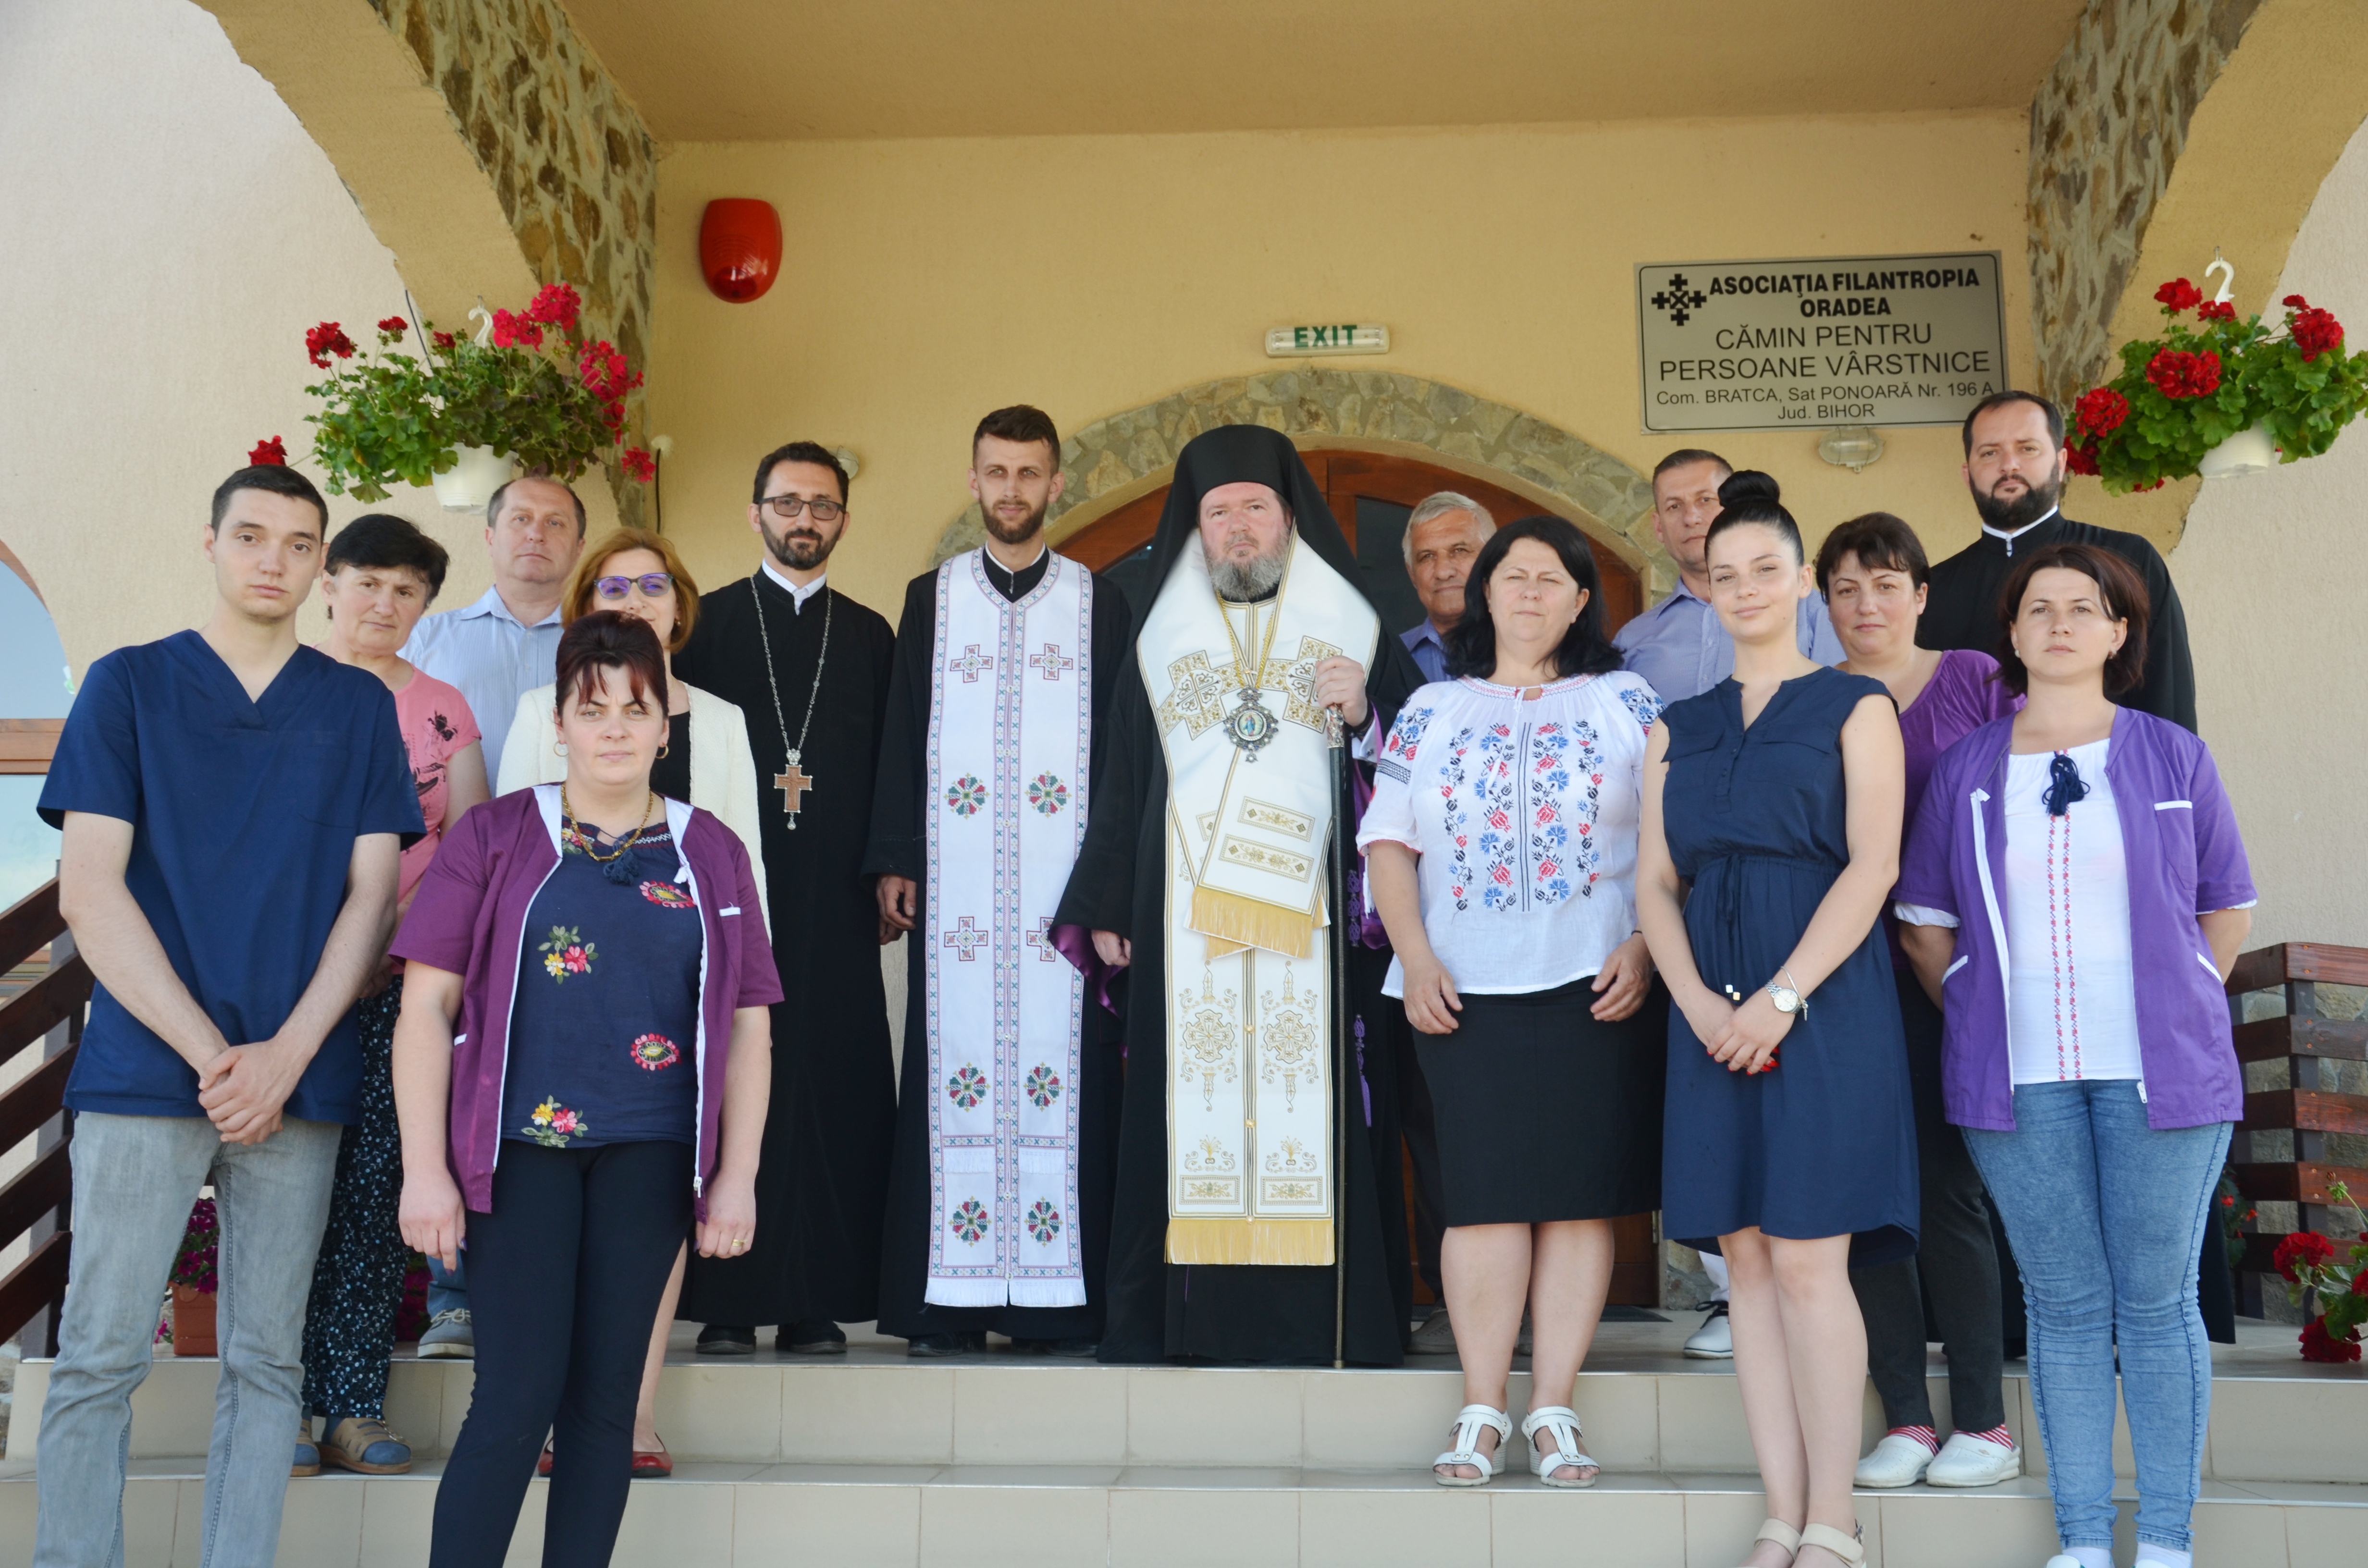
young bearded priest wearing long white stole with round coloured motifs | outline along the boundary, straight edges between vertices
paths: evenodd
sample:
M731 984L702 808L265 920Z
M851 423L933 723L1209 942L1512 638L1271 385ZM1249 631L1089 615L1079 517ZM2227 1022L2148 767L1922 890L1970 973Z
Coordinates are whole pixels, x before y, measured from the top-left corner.
M881 1334L964 1355L1089 1357L1111 1251L1118 1016L1051 933L1111 694L1125 597L1044 545L1061 436L1035 407L971 433L987 542L905 590L864 872L907 943Z

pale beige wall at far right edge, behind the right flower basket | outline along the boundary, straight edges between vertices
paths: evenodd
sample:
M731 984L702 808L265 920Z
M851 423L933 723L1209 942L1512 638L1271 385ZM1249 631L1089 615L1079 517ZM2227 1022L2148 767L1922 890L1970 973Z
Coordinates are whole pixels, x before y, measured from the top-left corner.
M2276 296L2368 341L2368 126L2318 187ZM2198 718L2261 886L2250 945L2368 947L2368 429L2261 478L2205 483L2171 552L2195 647Z

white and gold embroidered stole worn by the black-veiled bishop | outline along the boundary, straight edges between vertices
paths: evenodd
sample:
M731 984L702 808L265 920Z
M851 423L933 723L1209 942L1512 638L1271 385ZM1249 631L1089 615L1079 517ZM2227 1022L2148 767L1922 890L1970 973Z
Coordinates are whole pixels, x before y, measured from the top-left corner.
M1167 1262L1333 1260L1333 789L1314 666L1371 666L1378 630L1298 538L1274 599L1220 606L1186 547L1144 618L1167 758ZM1243 685L1272 722L1238 718Z

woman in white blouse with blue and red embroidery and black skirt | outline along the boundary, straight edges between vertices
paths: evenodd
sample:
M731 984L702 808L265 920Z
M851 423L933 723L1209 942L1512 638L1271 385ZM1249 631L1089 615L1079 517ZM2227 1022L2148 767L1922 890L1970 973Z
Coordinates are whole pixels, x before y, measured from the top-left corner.
M1660 699L1603 635L1584 535L1501 528L1376 763L1357 846L1397 959L1440 1137L1442 1274L1463 1355L1440 1485L1482 1485L1511 1438L1523 1305L1539 1478L1594 1485L1568 1400L1603 1317L1617 1215L1660 1203L1667 997L1636 936L1636 817ZM1648 1007L1648 1000L1653 1002Z

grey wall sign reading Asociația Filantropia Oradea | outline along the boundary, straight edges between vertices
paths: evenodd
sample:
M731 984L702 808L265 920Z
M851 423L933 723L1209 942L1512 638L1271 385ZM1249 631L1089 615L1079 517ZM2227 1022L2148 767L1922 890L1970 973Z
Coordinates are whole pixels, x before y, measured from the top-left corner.
M1646 431L1958 424L2006 391L1999 253L1636 268Z

